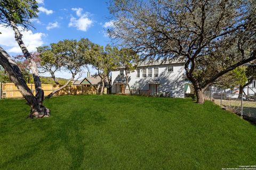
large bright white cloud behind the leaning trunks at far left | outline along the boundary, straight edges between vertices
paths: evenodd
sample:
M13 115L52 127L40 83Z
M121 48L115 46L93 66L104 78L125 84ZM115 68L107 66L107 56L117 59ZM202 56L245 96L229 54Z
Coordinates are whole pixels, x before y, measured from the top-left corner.
M19 27L21 30L21 28ZM8 27L2 27L0 25L0 46L2 46L9 53L21 53L21 49L15 41L13 30ZM21 31L25 45L27 46L29 52L33 52L36 50L36 47L42 46L44 44L43 37L46 36L45 33L37 32L33 33L31 30L29 31Z

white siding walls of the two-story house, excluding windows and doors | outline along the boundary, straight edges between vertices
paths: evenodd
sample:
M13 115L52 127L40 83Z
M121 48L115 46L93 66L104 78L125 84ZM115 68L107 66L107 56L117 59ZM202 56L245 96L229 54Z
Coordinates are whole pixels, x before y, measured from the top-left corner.
M167 72L167 66L173 66L173 72ZM148 68L153 68L152 74L154 76L154 68L158 67L158 78L148 78ZM142 78L142 69L146 68L147 78ZM140 78L137 78L137 70L129 74L129 85L134 90L149 90L149 83L158 81L157 92L169 92L171 97L184 97L184 65L183 63L160 64L150 66L138 66L140 69ZM118 93L116 84L122 80L125 83L125 75L119 75L120 70L112 72L112 92ZM125 74L125 72L124 72ZM118 85L117 85L118 86ZM117 90L117 91L116 91ZM125 88L125 94L129 94L129 88Z

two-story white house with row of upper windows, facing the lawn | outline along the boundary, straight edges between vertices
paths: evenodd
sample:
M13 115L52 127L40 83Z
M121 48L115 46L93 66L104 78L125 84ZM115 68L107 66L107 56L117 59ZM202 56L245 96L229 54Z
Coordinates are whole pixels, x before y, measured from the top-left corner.
M184 62L143 62L127 71L133 94L184 97ZM112 72L112 93L130 94L123 67Z

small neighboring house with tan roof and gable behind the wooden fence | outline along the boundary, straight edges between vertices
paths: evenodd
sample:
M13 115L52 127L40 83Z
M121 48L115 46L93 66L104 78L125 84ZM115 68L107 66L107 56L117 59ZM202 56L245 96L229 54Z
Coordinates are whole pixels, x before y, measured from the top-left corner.
M90 87L90 86L97 87L99 84L102 84L102 82L101 82L101 78L99 77L99 75L97 75L97 76L92 76L92 77L85 77L82 80L75 81L73 84L74 85L84 85L85 87ZM105 80L105 87L108 87L108 86L109 86L109 82L108 82L108 80Z

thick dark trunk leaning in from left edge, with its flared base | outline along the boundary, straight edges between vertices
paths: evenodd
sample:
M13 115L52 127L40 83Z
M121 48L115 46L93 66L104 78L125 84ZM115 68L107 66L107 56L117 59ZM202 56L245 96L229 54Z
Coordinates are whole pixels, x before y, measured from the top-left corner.
M50 116L50 110L44 107L40 102L38 102L37 98L32 94L32 91L27 86L18 65L1 47L0 65L4 67L4 70L9 75L10 80L15 84L15 86L17 86L22 96L27 100L27 104L31 108L29 117L40 118L44 116Z

